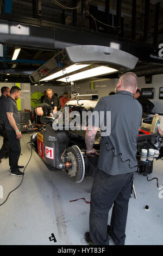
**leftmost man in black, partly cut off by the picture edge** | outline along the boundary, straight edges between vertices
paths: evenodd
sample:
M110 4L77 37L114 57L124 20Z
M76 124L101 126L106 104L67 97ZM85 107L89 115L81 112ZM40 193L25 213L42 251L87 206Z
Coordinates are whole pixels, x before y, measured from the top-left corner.
M1 97L0 97L0 135L3 137L3 145L0 150L0 163L3 157L9 157L9 139L5 132L4 118L3 118L3 106L4 101L10 96L10 88L3 86L1 88Z

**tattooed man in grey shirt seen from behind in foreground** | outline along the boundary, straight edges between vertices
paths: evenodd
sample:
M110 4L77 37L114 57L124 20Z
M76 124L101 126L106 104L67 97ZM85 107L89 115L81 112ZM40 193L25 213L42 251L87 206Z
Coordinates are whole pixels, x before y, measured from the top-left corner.
M102 136L91 191L90 233L85 234L86 241L94 245L109 245L108 231L116 245L124 245L126 238L128 202L133 174L137 170L137 136L142 118L142 107L133 97L136 89L137 76L132 72L123 74L118 80L116 94L102 97L93 111L97 111L99 117L105 114L104 120L96 125L93 122L92 129L86 131L86 154L90 157L98 154L93 144L99 127ZM108 119L107 124L108 113L111 121ZM110 126L110 134L105 134L104 124L107 128ZM112 205L111 222L107 227Z

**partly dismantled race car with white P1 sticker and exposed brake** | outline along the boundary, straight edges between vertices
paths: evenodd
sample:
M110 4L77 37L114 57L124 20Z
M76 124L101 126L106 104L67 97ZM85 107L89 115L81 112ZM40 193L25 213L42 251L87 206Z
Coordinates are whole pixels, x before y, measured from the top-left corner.
M97 169L98 156L86 155L84 139L87 120L97 102L98 95L76 95L66 102L56 118L42 117L39 131L31 135L34 149L47 167L50 170L64 170L74 182L82 182L84 177L94 176ZM76 114L78 122L74 122L71 113ZM83 113L87 113L85 121L81 118ZM93 146L97 151L100 150L100 139L99 129ZM152 173L153 162L162 156L162 137L156 131L145 131L140 127L137 137L137 172L145 175Z

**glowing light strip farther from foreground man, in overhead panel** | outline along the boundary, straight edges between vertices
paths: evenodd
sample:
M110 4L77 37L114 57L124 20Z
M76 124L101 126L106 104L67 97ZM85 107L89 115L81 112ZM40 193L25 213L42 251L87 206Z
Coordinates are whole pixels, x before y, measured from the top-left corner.
M76 70L79 70L79 69L83 69L86 66L90 66L90 64L78 64L78 65L74 64L74 65L68 66L68 68L65 69L64 73L68 74L68 73L71 73L73 71L76 71ZM54 78L60 77L62 75L63 75L63 72L62 72L62 70L60 70L60 71L58 71L58 72L56 72L56 73L54 73L54 74L52 74L50 76L47 76L47 77L41 79L40 81L49 81L49 80L52 80Z

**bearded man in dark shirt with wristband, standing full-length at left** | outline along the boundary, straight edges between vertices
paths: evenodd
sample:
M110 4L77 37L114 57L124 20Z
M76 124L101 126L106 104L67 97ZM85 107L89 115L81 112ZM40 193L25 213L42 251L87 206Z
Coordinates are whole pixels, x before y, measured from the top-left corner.
M20 139L22 133L20 131L20 113L17 109L16 101L20 97L21 89L17 86L13 86L10 90L10 96L4 102L4 123L7 136L9 138L10 152L9 152L9 165L10 174L15 176L22 176L20 168L18 166L18 160L21 154Z

